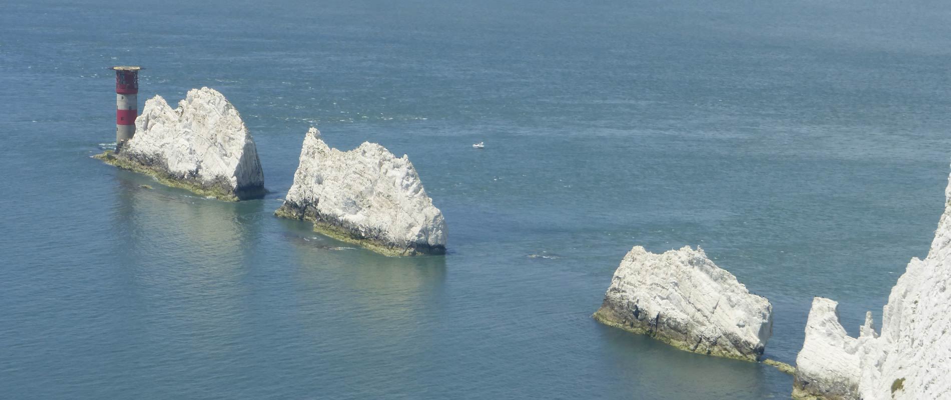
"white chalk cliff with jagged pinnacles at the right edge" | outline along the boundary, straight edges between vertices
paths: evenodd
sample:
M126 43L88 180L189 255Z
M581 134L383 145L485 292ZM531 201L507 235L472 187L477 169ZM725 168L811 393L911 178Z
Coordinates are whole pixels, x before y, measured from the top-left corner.
M801 365L794 398L951 399L951 185L944 196L944 213L928 256L912 258L892 288L880 334L866 314L859 337L848 337L838 315L829 312L835 302L813 301L803 350L796 359ZM855 390L825 390L836 381L845 382L838 387Z

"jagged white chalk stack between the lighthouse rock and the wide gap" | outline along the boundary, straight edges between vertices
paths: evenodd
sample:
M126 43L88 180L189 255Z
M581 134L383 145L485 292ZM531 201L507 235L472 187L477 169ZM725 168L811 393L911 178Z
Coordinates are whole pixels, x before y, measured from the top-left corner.
M275 214L313 221L324 235L387 256L446 251L446 222L405 155L377 143L340 151L315 128L304 136L294 183Z

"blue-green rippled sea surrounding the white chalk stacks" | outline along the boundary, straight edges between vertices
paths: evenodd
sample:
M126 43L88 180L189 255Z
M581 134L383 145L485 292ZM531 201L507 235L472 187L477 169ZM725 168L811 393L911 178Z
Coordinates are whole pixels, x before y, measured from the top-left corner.
M947 3L277 3L2 5L2 397L783 398L593 322L620 258L701 245L790 362L813 295L881 314L943 207ZM273 193L89 159L118 64L140 106L222 91ZM311 125L409 154L449 254L273 218Z

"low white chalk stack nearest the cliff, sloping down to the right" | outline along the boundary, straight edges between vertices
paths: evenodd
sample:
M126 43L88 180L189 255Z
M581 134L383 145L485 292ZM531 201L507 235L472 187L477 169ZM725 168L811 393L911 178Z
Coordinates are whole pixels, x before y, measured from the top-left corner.
M657 255L635 246L593 317L689 352L750 361L772 334L769 301L750 294L700 248Z

